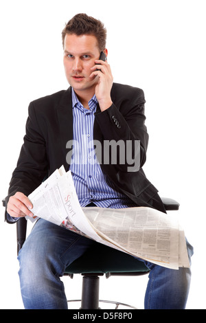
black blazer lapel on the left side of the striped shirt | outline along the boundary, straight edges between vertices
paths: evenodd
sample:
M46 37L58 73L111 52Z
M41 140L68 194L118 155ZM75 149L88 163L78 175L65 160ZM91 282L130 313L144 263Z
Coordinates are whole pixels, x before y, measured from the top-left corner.
M66 161L68 149L66 148L67 142L73 140L73 111L71 99L71 87L65 91L60 100L57 109L58 124L60 129L60 142L62 153L64 155L65 170L69 170L69 164Z

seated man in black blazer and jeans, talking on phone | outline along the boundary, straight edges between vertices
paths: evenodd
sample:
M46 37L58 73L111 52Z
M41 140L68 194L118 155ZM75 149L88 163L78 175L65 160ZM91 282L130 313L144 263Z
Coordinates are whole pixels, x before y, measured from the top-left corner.
M62 31L62 41L65 74L71 87L30 103L24 144L6 198L7 221L32 216L28 194L62 164L71 170L82 207L90 203L103 208L148 206L165 212L157 189L142 170L148 146L144 93L141 89L113 84L110 65L99 59L101 52L108 54L104 25L86 14L78 14ZM75 150L74 157L71 154L68 157L71 140L80 144L80 160L88 163L77 163ZM101 150L96 150L98 161L89 162L91 156L84 149L85 140L102 145ZM113 162L113 152L104 146L104 142L111 140L116 143L122 140L125 147L132 143L133 161L135 142L140 142L138 167L134 165L128 171L131 163L128 159L120 162L121 152ZM19 253L25 309L66 309L59 277L94 244L88 238L38 220ZM175 271L145 263L150 268L145 307L185 308L190 269Z

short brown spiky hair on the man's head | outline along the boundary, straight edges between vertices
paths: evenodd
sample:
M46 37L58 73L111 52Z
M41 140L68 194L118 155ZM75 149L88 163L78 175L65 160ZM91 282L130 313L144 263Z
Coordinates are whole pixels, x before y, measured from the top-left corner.
M76 16L73 16L65 25L65 28L62 30L63 47L66 34L76 34L78 36L84 34L93 35L98 40L100 51L104 51L106 47L106 28L104 27L104 24L92 16L87 16L87 14L76 14Z

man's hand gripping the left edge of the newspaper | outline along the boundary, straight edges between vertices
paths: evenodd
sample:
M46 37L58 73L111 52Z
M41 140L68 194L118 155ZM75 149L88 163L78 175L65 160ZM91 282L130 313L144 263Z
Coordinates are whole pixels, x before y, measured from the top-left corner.
M23 216L33 216L34 214L29 210L33 208L30 200L21 192L16 192L10 197L7 205L7 212L14 218L22 218Z

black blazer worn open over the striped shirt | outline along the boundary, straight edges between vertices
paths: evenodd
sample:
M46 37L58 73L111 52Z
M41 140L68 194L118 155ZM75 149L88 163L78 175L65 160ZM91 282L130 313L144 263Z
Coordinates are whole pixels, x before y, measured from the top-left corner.
M123 192L137 206L150 206L150 199L157 194L157 189L148 181L142 166L146 161L148 133L145 126L144 92L128 85L113 84L111 90L113 104L101 112L95 112L93 139L102 143L104 140L140 140L140 169L128 172L128 164L104 164L108 184ZM8 197L15 192L29 195L38 187L45 176L49 176L62 164L69 170L66 161L69 149L67 142L73 138L73 113L71 87L30 103L26 123L26 134L17 166L12 174ZM97 154L98 159L104 151ZM101 156L102 155L102 156ZM160 209L162 205L160 205ZM9 221L8 221L9 222Z

